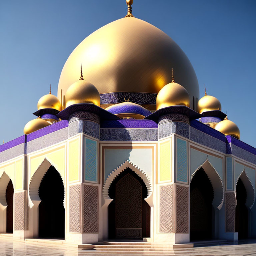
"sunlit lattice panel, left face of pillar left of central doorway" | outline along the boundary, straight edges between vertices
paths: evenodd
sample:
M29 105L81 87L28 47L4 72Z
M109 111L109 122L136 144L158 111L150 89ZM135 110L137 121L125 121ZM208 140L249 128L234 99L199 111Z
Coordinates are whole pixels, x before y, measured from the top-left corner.
M80 190L80 184L69 187L69 232L81 233Z

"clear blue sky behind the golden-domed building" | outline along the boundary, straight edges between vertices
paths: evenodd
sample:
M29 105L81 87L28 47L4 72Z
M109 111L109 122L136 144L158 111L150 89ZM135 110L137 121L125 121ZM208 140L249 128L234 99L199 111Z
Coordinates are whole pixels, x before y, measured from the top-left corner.
M0 2L0 142L23 134L39 98L57 95L73 49L103 25L126 15L125 0ZM197 74L200 97L217 97L256 147L256 1L134 0L133 14L167 33Z

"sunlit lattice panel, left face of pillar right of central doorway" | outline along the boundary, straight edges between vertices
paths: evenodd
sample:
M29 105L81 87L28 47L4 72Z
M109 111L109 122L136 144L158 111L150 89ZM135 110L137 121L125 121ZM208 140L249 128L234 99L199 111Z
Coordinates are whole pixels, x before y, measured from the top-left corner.
M160 187L160 232L173 233L173 185Z

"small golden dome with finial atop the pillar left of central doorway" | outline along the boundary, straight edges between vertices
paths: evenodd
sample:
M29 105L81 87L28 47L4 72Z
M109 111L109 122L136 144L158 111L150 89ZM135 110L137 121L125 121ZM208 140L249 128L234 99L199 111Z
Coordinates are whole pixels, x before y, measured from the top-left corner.
M93 103L100 106L100 94L97 88L84 80L81 65L81 77L78 81L69 86L66 96L66 107L77 103Z

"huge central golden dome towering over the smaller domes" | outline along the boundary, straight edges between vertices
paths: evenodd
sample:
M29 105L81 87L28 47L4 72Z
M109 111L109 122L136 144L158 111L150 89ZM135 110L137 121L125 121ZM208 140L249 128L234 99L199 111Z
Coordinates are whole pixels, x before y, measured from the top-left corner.
M113 21L85 38L68 57L59 79L58 98L77 80L82 63L84 76L102 93L158 93L176 80L195 106L199 87L195 71L181 48L163 31L131 17ZM64 101L62 100L64 103ZM135 102L136 103L136 102ZM102 107L108 105L102 105Z

